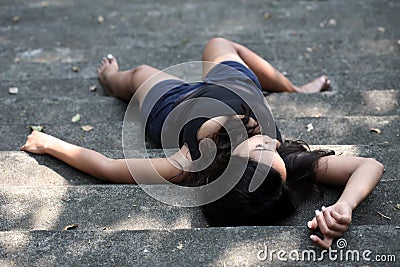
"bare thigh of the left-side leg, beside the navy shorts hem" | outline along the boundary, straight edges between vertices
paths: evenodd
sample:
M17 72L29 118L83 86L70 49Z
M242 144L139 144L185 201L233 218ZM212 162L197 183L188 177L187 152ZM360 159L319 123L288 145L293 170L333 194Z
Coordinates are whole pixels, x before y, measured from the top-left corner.
M149 91L159 82L165 80L181 80L180 78L162 72L159 69L153 68L148 65L141 65L136 67L132 73L132 86L135 98L138 100L139 105L142 106L143 100Z

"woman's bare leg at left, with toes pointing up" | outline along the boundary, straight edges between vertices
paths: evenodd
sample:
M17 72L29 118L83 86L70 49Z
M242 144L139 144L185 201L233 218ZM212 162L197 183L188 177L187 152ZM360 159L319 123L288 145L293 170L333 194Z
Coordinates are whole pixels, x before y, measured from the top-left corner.
M140 65L128 71L119 71L115 57L103 58L97 72L106 94L125 101L129 101L132 96L135 96L140 106L155 84L168 79L180 80L148 65Z

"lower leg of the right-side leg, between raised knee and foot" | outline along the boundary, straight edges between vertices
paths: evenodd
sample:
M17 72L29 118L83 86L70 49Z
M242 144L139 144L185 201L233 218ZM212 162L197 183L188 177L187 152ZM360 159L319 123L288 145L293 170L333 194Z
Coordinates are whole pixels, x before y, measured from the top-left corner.
M262 57L246 48L233 43L236 52L247 66L256 74L264 90L277 92L295 92L295 86Z

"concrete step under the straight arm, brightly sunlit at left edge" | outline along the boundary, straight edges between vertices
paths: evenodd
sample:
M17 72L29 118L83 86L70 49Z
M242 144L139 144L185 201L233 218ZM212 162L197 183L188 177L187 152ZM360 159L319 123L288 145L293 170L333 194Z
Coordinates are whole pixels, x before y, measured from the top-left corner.
M382 180L398 180L398 173L400 173L397 156L400 149L398 144L311 146L311 149L334 150L336 155L376 158L386 167ZM124 158L123 152L120 150L101 151L101 153L110 158ZM147 150L147 152L135 150L131 153L137 158L164 157L164 153L156 149ZM63 186L103 183L53 157L19 151L0 151L0 175L2 176L0 186Z

